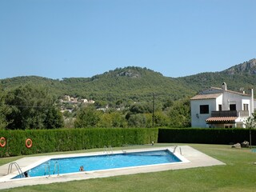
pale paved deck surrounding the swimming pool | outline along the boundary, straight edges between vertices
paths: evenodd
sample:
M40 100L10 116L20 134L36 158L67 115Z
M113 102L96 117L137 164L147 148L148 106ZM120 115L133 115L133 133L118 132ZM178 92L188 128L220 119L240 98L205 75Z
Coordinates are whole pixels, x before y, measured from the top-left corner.
M138 150L126 150L126 152L137 152L144 150L170 150L174 151L175 146L167 146L167 147L154 147L154 148L146 148L146 149L138 149ZM181 150L180 150L181 149ZM181 154L182 152L182 154ZM123 153L122 150L114 150L114 154ZM26 170L30 170L34 166L38 166L42 162L46 162L50 158L63 158L63 157L74 157L74 156L89 156L89 155L97 155L102 154L102 152L94 152L94 153L84 153L84 154L62 154L62 155L47 155L47 156L38 156L38 157L29 157L29 158L21 158L18 159L18 165L21 167L22 172ZM74 174L62 174L62 175L51 175L50 177L34 177L34 178L18 178L18 179L10 179L18 175L18 171L13 166L13 172L7 175L8 166L6 164L4 166L0 166L0 190L9 189L18 186L34 186L38 184L49 184L54 182L70 182L74 180L83 180L90 178L106 178L118 175L126 175L126 174L138 174L138 173L150 173L150 172L158 172L164 170L179 170L179 169L189 169L194 167L202 167L202 166L223 166L226 165L223 162L218 161L215 158L211 158L210 156L203 154L202 152L195 150L190 146L178 146L175 150L175 155L178 158L182 158L182 163L170 163L164 165L154 165L154 166L136 166L122 169L114 169L114 170L96 170L96 171L84 171Z

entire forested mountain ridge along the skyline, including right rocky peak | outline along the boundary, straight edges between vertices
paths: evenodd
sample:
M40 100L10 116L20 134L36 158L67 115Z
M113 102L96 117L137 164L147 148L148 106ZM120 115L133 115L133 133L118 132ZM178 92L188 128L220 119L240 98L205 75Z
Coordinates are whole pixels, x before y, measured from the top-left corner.
M165 77L146 67L126 66L96 74L91 78L62 78L62 80L39 76L5 78L0 79L0 86L8 91L31 83L45 86L57 97L69 94L105 102L149 101L154 93L158 95L158 99L164 101L191 97L206 87L220 87L222 82L226 82L230 90L240 90L241 87L246 90L256 85L255 74L256 59L253 58L220 72L204 72L181 78Z

